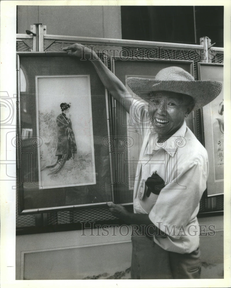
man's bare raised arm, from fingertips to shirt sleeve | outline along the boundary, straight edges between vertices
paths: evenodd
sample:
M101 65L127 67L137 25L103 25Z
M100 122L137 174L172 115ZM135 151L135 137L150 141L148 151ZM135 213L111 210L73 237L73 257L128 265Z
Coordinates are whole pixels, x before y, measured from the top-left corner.
M68 55L70 56L91 61L103 85L119 103L121 103L121 99L125 97L125 94L129 94L124 84L103 64L93 50L78 43L65 47L63 50L70 50L68 52ZM127 100L131 100L132 102L133 98L131 97L129 99L128 97ZM128 102L126 101L126 103ZM129 108L129 105L124 106L124 109L126 109L128 113Z

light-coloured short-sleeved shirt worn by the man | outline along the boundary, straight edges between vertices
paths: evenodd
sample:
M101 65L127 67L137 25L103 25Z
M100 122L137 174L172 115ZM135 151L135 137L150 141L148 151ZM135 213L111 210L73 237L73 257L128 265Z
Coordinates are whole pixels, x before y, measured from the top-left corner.
M168 235L154 236L154 242L163 249L191 253L199 246L196 216L208 178L207 151L185 122L170 138L158 143L146 107L134 100L130 109L129 123L143 139L134 184L134 213L149 214L152 223ZM165 186L159 195L147 197L145 181L154 172Z

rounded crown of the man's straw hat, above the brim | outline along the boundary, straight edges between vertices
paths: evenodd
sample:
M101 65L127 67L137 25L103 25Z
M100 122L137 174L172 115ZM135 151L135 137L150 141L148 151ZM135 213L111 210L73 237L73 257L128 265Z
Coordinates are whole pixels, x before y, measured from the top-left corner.
M156 77L155 80L160 81L195 81L193 76L185 71L180 67L167 67L161 69Z

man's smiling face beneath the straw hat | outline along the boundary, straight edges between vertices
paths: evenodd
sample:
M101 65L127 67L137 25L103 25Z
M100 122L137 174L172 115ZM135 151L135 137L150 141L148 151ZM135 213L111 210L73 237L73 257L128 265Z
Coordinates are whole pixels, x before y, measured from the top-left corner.
M159 136L172 136L184 123L190 96L175 92L154 91L148 100L148 115ZM160 131L159 131L160 130Z

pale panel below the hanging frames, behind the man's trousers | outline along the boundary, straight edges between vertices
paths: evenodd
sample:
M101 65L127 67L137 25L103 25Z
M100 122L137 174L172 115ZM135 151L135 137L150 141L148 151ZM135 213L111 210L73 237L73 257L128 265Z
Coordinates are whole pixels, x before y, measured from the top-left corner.
M216 232L214 236L200 236L201 278L223 278L223 216L200 218L199 224L207 226L205 232L214 225ZM122 234L127 235L121 236L111 228L106 237L101 232L16 236L16 280L107 278L125 272L131 265L131 231L127 234L124 227Z

